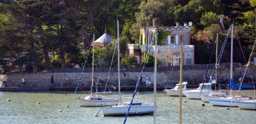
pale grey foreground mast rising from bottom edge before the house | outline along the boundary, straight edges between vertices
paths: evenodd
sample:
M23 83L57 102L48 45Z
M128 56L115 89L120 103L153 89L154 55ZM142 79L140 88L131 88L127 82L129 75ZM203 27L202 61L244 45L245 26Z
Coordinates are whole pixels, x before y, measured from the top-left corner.
M153 123L157 123L157 35L155 33L155 74L153 77L153 93L154 93L154 100L153 100Z

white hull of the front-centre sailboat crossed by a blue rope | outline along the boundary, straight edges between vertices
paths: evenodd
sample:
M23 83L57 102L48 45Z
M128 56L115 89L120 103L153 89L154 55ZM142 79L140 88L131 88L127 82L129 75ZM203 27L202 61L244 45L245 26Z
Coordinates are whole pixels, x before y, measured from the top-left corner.
M126 115L129 105L126 106L112 106L112 107L103 107L101 108L104 116L116 116L116 115ZM154 105L145 104L144 106L136 105L131 106L129 110L129 115L145 115L153 113Z

